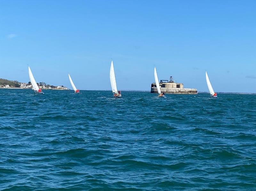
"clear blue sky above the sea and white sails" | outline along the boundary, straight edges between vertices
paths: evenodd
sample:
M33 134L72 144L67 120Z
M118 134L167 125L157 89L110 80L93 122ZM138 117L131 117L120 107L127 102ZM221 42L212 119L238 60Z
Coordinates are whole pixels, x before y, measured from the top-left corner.
M159 79L256 92L256 1L0 1L0 78L81 90Z

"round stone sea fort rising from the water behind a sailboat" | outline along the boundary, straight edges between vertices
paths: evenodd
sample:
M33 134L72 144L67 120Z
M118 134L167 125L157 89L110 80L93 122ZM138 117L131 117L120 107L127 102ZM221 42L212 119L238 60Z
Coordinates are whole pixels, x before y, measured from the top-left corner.
M162 93L197 94L197 89L184 88L182 83L174 82L172 76L170 77L170 80L160 80L159 85ZM151 84L150 93L158 93L156 83Z

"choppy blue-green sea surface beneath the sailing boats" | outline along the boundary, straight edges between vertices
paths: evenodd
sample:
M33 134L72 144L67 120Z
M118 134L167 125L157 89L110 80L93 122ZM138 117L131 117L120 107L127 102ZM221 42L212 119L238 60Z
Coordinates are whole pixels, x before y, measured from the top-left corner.
M0 190L256 190L256 95L0 89Z

